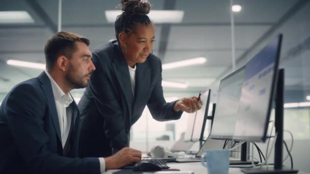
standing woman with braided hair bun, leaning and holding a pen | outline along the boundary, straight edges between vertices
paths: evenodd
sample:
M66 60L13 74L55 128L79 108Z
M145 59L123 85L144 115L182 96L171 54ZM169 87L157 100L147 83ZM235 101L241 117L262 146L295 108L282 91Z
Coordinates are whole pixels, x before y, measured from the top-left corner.
M177 120L183 111L195 112L197 97L166 102L162 88L162 63L153 55L154 25L146 0L122 0L115 21L116 40L93 50L96 70L79 103L82 157L110 156L130 142L131 126L147 105L158 121Z

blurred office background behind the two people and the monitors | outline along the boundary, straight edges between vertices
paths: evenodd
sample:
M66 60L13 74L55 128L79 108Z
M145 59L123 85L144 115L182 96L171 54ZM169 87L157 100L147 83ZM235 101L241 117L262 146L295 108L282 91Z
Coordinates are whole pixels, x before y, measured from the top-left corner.
M8 65L9 60L44 64L44 45L58 30L88 37L90 49L115 39L115 16L111 10L119 11L116 8L119 3L116 0L0 1L0 103L15 84L42 72L42 69ZM280 67L286 71L285 129L294 135L294 167L310 171L307 165L310 160L310 1L150 0L150 3L151 12L176 12L176 18L158 14L159 19L153 19L156 27L153 53L163 65L205 58L200 64L163 69L167 101L197 96L199 91L211 89L211 103L216 103L219 80L245 65L271 39L283 33ZM234 6L234 12L232 5L239 5ZM72 95L79 101L83 92L83 89L74 90ZM177 121L157 122L146 108L132 128L131 146L142 151L149 151L157 144L171 147L186 130L187 119L185 113ZM291 143L286 133L285 139Z

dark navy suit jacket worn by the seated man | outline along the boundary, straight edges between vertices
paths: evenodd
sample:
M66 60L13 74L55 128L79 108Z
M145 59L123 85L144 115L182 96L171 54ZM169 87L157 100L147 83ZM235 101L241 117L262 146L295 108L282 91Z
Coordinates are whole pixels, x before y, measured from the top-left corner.
M58 114L51 83L43 72L17 84L0 107L0 173L100 173L98 158L74 158L80 129L75 102L71 139L63 155ZM73 126L73 125L72 125Z

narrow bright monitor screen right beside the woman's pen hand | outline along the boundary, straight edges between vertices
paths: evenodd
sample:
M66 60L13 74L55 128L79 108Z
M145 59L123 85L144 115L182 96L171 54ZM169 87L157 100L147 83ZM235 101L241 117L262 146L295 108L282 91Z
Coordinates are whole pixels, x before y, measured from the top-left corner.
M203 105L201 106L201 109L197 110L196 112L196 119L194 122L194 129L192 134L192 141L194 142L202 140L204 138L203 132L205 128L206 117L208 116L210 92L211 90L208 90L204 92L200 97Z

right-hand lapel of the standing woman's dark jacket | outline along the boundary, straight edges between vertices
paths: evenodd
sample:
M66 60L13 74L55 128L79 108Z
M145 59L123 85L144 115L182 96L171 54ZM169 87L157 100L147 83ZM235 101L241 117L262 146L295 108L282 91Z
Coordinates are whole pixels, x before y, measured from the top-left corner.
M140 101L144 101L146 99L151 78L151 69L147 61L143 64L137 64L136 66L137 70L134 110L136 110L136 107L139 106Z

